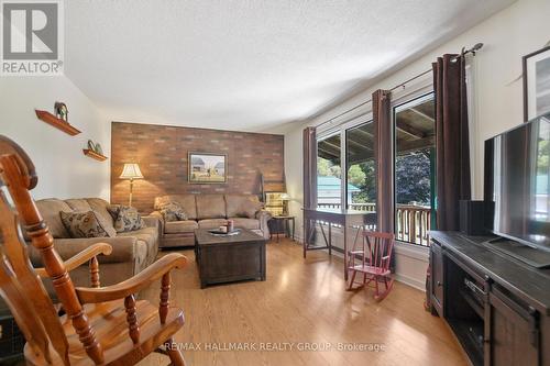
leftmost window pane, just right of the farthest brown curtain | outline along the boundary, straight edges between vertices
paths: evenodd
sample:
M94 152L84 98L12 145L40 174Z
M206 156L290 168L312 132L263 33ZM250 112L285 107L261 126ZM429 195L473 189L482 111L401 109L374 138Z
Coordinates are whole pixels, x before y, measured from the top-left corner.
M342 204L340 134L317 142L317 206L339 209Z

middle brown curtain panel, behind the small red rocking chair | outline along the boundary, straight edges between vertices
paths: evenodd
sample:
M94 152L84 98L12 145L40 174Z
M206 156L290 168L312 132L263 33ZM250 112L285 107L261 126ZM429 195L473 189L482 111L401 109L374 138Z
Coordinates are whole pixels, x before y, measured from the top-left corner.
M394 149L391 115L391 91L373 93L374 162L376 175L376 231L393 233L394 212ZM395 249L393 249L395 252ZM389 268L395 270L395 253Z

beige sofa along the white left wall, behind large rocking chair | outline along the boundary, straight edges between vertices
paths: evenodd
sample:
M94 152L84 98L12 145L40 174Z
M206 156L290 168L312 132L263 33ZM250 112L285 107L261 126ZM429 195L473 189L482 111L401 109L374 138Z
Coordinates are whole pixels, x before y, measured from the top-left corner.
M100 198L68 200L50 198L36 201L36 207L54 237L54 247L64 260L94 243L111 244L111 255L98 257L101 286L118 284L142 271L155 260L158 253L158 220L156 218L143 217L146 228L117 233L114 237L72 239L59 217L59 211L94 210L100 217L101 224L112 225L113 220L107 211L108 206L109 203ZM32 245L29 245L29 249L33 265L42 267L38 251ZM70 278L76 286L90 286L87 266L72 270Z

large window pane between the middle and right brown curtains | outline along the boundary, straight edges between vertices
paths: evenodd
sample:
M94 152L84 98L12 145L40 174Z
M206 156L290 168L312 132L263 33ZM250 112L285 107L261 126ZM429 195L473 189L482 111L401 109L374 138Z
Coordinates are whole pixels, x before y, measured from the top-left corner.
M432 92L394 108L395 233L411 244L429 245L435 222L435 112Z

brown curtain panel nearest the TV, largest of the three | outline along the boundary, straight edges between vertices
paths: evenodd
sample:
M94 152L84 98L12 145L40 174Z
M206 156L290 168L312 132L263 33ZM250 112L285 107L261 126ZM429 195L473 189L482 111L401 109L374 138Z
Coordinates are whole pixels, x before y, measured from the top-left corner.
M454 231L460 229L459 201L471 199L465 58L443 55L432 67L436 93L437 229Z

